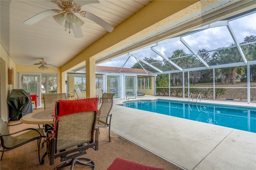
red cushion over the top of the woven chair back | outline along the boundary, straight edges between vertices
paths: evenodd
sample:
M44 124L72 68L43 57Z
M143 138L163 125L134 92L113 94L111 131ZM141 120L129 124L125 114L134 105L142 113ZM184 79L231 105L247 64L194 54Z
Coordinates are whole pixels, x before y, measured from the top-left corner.
M59 115L70 115L79 112L98 111L98 98L78 99L78 100L59 100ZM55 105L56 112L56 105ZM56 113L55 113L56 115Z

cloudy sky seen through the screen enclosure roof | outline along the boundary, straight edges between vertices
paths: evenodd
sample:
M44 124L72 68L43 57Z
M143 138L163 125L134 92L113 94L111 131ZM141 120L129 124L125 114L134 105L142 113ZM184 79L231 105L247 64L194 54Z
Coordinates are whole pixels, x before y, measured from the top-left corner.
M239 43L244 42L244 38L246 36L256 36L256 13L244 16L242 18L238 18L236 20L232 20L229 22L229 24ZM232 36L230 35L226 26L209 28L207 30L190 34L182 38L196 52L198 52L199 49L214 50L219 47L228 47L232 43L234 43L234 40L232 39ZM183 49L187 54L191 54L191 51L179 41L158 45L155 48L166 57L172 56L173 51L176 49ZM138 55L141 59L143 59L144 57L152 57L154 59L162 60L162 57L156 55L156 53L154 53L153 51L144 51L141 53L137 53L136 55ZM114 59L114 61L101 63L98 65L109 67L123 67L127 59L128 57L122 59ZM137 61L134 57L130 57L124 67L130 68L136 62Z

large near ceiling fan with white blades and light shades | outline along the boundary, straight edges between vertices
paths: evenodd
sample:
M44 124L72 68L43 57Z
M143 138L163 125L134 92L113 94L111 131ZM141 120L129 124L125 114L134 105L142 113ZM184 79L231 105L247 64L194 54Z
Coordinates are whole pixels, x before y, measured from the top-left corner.
M100 3L98 0L83 0L79 2L80 4L77 4L74 0L51 0L51 2L57 4L61 10L52 9L43 11L24 21L24 23L33 25L47 16L57 13L57 15L53 16L54 20L56 20L56 22L58 22L60 25L62 25L65 20L65 30L68 28L70 33L70 29L72 29L75 38L82 38L83 34L80 27L84 24L84 22L74 14L78 13L82 17L88 18L89 20L92 20L96 24L102 26L108 32L112 32L114 30L113 26L98 16L87 11L81 11L82 6L86 4Z

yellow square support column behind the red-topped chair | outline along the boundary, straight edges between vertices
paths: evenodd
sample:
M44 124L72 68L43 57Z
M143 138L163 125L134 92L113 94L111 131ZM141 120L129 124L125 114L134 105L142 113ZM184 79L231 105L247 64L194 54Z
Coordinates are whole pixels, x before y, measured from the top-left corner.
M86 98L96 97L95 58L85 60Z

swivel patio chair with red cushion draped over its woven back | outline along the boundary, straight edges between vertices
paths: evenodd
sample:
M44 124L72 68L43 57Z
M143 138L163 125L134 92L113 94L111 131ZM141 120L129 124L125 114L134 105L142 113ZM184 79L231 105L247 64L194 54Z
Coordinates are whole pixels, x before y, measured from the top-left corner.
M42 157L42 164L48 155L50 165L54 165L58 157L61 162L65 161L56 169L71 165L72 170L75 164L82 164L92 166L95 170L93 160L76 157L86 154L88 148L98 149L98 129L95 128L97 111L98 98L57 101L54 131L47 132L47 152Z

